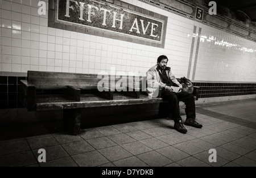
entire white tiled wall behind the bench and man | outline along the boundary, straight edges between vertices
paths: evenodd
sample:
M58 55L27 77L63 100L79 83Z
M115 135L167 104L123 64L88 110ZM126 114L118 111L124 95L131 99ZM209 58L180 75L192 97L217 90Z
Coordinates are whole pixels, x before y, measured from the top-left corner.
M146 72L155 65L158 56L166 54L176 77L187 77L194 35L196 38L191 74L195 70L196 81L256 82L256 43L236 35L141 1L126 0L127 3L168 16L165 48L155 48L48 28L48 12L46 15L39 15L38 2L39 0L0 0L0 71L26 73L27 70L40 70L97 74L100 71L110 73L111 69L115 69L127 73ZM193 34L194 26L196 34ZM197 66L194 69L199 28L202 30Z

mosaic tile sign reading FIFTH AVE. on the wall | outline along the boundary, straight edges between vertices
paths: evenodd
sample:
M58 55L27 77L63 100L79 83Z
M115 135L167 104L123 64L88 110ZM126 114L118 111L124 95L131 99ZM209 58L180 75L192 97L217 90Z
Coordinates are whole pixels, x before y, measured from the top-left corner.
M119 5L123 3L121 1L109 3L97 0L56 0L54 1L54 21L64 26L98 32L108 31L112 35L125 35L163 44L167 17L128 3L124 5L126 9L115 5L116 2L119 2Z

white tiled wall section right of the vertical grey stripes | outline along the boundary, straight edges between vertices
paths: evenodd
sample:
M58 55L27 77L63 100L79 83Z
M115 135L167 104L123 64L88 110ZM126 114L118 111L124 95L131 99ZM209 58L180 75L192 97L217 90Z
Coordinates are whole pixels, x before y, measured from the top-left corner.
M255 82L256 43L208 26L202 27L196 80Z

